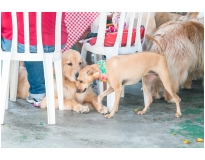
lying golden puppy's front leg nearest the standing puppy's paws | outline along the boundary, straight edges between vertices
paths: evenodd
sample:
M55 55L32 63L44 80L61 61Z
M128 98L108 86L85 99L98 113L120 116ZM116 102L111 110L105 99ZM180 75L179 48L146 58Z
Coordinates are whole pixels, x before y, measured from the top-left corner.
M87 95L84 102L92 104L93 107L101 114L108 113L108 108L103 106L102 103L98 103L97 95L94 93Z

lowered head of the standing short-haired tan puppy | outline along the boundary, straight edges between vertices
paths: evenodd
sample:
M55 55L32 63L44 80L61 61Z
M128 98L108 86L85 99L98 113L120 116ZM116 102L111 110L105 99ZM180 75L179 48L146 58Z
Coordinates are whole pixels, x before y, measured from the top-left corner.
M89 65L83 68L79 72L77 78L77 93L83 93L89 87L89 85L100 76L101 72L96 65Z

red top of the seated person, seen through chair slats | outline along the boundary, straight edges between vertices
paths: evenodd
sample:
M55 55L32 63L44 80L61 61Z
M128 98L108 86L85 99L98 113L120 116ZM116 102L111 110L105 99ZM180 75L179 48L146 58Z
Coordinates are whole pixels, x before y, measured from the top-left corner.
M1 36L12 40L12 19L11 12L1 12ZM55 12L42 13L42 39L46 46L55 45ZM65 13L62 14L61 44L67 42L67 31L65 26ZM23 12L17 12L18 42L24 44ZM29 12L30 45L36 45L36 12Z

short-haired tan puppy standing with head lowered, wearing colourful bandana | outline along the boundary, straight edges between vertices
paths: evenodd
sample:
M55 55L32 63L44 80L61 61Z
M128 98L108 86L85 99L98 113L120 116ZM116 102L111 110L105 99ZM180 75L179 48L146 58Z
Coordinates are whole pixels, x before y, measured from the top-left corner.
M181 116L181 99L173 91L170 80L169 70L166 64L166 58L154 52L140 52L128 55L114 56L106 61L107 82L110 87L98 96L98 103L101 104L103 97L115 92L115 102L110 114L106 118L112 118L118 111L118 104L122 92L122 85L132 85L142 80L145 108L138 114L145 114L152 103L151 86L157 75L162 80L164 87L172 95L176 103L176 117ZM97 64L89 65L79 72L78 91L83 91L89 87L92 81L101 77L101 71Z

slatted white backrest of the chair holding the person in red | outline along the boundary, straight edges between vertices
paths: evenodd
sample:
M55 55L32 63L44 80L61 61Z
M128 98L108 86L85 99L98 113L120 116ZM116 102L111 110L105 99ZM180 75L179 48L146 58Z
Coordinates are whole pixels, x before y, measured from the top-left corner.
M62 12L56 13L55 23L55 51L53 53L53 60L60 59L61 57L61 19ZM22 61L42 61L43 60L43 43L42 43L42 13L36 13L36 37L37 37L37 53L30 53L30 40L29 40L29 12L23 12L24 20L24 53L17 52L18 44L18 26L17 26L17 14L12 12L12 60ZM52 54L49 53L49 54Z

